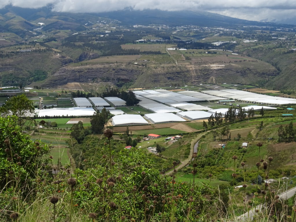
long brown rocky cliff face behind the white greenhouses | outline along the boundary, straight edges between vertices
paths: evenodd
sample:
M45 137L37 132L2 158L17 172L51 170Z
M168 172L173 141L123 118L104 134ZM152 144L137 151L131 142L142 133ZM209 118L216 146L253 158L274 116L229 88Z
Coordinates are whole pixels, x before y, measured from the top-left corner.
M265 72L233 64L217 67L188 65L155 68L131 64L65 66L46 79L41 86L56 87L73 82L108 82L116 85L130 81L133 82L133 87L224 82L256 84L267 81L278 73L272 66L267 67Z

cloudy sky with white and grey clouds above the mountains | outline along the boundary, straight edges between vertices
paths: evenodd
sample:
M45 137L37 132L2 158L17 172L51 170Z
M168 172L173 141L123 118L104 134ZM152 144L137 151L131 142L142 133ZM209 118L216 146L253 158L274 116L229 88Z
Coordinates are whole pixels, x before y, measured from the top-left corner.
M19 7L38 8L54 4L58 12L105 12L131 7L137 10L196 9L231 17L296 23L295 0L1 0L0 7L12 4Z

